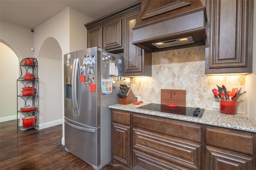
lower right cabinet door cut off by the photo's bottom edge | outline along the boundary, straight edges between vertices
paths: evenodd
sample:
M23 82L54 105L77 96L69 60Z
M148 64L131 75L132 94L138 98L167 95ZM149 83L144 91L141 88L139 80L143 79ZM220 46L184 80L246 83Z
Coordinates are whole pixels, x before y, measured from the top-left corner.
M206 147L207 170L253 170L252 158Z

